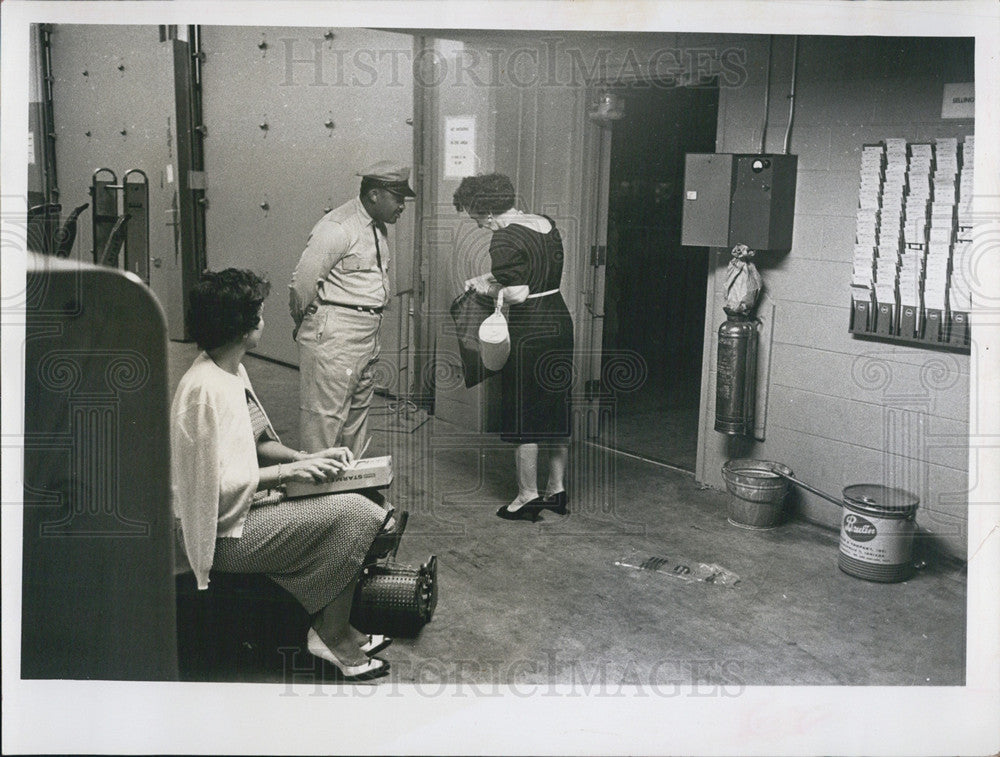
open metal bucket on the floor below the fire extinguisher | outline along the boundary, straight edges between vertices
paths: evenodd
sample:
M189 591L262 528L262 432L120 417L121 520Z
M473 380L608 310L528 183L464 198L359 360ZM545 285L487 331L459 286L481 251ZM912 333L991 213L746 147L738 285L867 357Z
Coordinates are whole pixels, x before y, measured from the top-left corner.
M723 464L722 478L730 494L727 514L731 524L752 530L781 525L789 484L776 470L792 475L791 468L769 460L744 458Z

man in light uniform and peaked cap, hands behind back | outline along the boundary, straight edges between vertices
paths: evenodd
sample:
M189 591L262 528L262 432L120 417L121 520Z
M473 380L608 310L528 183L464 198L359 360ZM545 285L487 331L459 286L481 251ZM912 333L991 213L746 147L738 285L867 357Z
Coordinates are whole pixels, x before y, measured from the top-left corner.
M292 274L289 309L299 344L303 449L360 456L375 391L372 366L389 302L387 223L415 197L410 169L381 161L358 173L361 192L313 227Z

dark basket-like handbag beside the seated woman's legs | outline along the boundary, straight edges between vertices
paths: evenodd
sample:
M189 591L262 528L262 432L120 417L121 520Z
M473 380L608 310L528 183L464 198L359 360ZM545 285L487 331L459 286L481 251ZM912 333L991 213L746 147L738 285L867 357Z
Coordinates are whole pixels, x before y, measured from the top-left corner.
M437 557L419 568L395 562L364 569L354 591L351 625L364 633L412 636L429 623L437 606Z

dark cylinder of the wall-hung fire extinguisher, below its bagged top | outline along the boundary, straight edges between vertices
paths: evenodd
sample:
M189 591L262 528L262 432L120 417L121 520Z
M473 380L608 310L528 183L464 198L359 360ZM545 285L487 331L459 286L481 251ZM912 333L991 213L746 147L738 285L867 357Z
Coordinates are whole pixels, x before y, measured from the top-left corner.
M719 326L716 363L715 430L725 434L753 433L757 392L757 319L728 313Z

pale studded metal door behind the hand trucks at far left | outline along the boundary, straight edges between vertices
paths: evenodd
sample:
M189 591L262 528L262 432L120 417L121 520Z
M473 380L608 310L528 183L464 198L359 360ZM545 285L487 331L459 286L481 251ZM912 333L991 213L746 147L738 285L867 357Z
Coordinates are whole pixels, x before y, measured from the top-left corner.
M177 339L183 304L172 208L179 169L173 41L166 28L56 24L50 39L60 202L67 209L89 202L99 168L118 177L141 170L149 178L149 264L140 264L140 275L148 274L169 335ZM92 261L93 248L91 224L82 219L70 256Z

